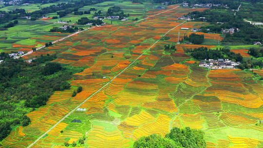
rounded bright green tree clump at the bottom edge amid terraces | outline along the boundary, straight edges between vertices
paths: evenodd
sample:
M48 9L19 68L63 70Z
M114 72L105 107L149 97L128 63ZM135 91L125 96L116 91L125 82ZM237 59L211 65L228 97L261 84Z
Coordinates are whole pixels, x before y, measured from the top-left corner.
M206 148L206 141L201 130L173 128L165 137L144 136L134 142L133 148Z

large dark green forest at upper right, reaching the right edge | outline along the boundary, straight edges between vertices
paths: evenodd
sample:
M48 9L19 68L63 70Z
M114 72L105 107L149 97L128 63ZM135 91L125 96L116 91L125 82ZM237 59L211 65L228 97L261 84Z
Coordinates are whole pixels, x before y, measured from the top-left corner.
M207 22L211 24L202 27L203 32L220 33L222 29L235 28L233 34L226 34L223 43L246 43L252 44L254 41L263 40L263 28L254 26L244 21L243 13L236 13L226 8L212 8L204 12L194 11L189 15L192 19L197 21L204 21L199 19L205 17ZM238 28L239 30L237 30ZM209 30L207 30L209 29Z

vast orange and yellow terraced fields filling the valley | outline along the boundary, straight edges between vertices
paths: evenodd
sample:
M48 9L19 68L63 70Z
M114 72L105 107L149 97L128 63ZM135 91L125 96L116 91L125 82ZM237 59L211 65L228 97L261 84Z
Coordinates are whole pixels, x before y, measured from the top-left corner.
M25 57L56 53L56 62L88 66L70 80L83 91L75 97L71 97L75 87L55 92L46 106L28 114L29 126L17 127L1 144L28 147L110 82L79 107L85 111L74 111L33 148L66 148L65 142L72 144L83 136L86 140L79 148L127 148L142 136L165 135L173 127L204 130L208 148L263 147L263 126L259 124L263 87L254 74L208 71L195 66L184 53L187 48L213 45L180 44L176 53L164 54L164 45L175 44L179 31L190 33L181 27L204 24L180 25L183 21L176 19L196 10L204 9L179 7L137 23L97 27ZM148 16L161 11L150 11ZM165 34L170 39L163 39ZM205 34L205 38L218 40L220 36Z

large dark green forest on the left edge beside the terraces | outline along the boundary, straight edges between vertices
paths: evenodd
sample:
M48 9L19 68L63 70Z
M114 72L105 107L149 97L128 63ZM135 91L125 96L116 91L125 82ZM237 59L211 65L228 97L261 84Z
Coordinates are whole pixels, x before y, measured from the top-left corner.
M27 63L22 59L8 58L0 64L0 140L16 125L27 126L26 113L46 104L54 91L70 89L67 82L80 70L49 62L56 56L40 56Z

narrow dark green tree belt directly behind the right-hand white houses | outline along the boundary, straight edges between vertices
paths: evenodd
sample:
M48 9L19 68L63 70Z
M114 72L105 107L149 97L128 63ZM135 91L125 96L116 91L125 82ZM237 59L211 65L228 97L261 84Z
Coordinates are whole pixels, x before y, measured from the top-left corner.
M243 57L240 54L235 54L226 48L212 50L208 49L207 47L199 47L195 49L187 49L186 53L190 53L191 56L199 60L228 58L232 61L243 61Z

